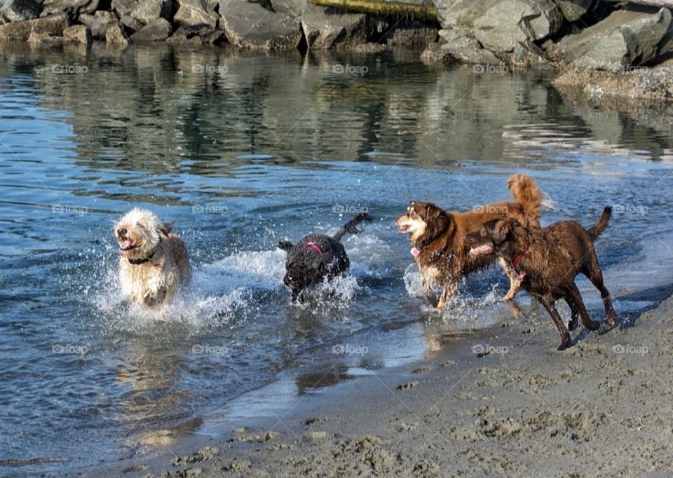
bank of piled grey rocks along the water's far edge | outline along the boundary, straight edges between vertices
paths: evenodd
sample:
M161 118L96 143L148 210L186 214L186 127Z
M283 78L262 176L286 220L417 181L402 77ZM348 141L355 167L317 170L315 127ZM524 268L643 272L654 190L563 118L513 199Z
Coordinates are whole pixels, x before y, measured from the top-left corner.
M385 4L378 4L383 11ZM111 48L167 41L302 53L406 46L422 50L423 61L474 64L478 72L553 71L557 86L593 100L673 98L669 8L604 0L434 0L434 7L436 21L311 0L4 0L0 41Z

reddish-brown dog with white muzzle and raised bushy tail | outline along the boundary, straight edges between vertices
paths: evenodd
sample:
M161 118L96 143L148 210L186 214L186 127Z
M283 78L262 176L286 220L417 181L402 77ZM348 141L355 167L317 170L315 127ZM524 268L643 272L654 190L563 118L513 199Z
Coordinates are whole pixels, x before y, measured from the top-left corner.
M492 264L495 254L473 256L463 243L465 234L480 231L484 223L491 219L512 217L531 229L540 227L543 193L533 179L517 174L510 177L508 189L514 202L501 202L471 211L446 211L433 203L411 201L407 214L395 219L400 233L409 234L414 246L412 255L423 275L426 290L435 286L443 289L437 308L442 310L458 289L458 281L463 275ZM505 272L510 277L510 290L505 301L518 292L520 282L508 264L501 260Z

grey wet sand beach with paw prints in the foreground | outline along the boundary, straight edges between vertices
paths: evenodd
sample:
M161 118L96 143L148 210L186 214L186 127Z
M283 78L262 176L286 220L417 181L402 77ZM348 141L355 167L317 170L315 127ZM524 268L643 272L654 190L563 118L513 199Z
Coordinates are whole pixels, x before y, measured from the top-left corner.
M669 291L670 292L670 291ZM526 301L527 302L527 301ZM618 301L616 302L618 304ZM603 318L592 310L594 318ZM540 308L95 476L671 476L673 297L574 345ZM580 339L579 341L577 339ZM78 474L73 472L72 476Z

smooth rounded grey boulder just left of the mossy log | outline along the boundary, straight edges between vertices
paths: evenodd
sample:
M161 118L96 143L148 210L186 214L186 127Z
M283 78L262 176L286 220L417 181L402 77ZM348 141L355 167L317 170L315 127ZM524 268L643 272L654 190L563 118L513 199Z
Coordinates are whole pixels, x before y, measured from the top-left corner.
M226 38L240 48L292 50L299 46L299 20L240 0L220 0L219 14Z

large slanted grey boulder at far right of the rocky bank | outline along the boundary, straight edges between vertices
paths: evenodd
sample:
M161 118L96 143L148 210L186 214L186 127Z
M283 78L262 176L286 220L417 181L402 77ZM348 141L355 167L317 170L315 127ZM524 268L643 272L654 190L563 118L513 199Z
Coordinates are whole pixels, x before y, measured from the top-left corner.
M559 41L554 52L575 68L620 69L652 62L671 29L671 12L618 10L582 32Z

